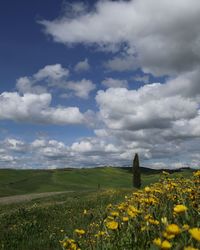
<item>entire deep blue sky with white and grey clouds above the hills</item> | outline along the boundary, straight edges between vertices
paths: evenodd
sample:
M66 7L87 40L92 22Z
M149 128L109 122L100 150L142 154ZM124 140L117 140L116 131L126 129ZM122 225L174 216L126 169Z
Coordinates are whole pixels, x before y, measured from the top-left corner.
M200 1L0 6L0 168L200 166Z

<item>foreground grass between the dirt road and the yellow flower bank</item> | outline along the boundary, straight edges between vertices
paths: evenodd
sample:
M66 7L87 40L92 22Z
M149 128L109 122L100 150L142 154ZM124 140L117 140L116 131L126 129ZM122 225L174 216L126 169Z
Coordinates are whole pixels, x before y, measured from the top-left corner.
M0 249L61 249L61 229L72 237L75 228L95 222L109 203L119 202L130 192L83 191L1 206ZM84 209L87 216L83 216Z

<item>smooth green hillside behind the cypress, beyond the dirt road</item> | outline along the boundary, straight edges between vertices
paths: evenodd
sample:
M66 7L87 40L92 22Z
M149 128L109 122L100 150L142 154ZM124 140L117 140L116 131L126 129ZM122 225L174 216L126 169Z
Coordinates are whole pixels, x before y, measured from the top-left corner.
M190 173L184 171L183 173ZM144 171L142 183L158 180L154 171ZM101 188L131 188L129 169L102 167L92 169L60 170L0 170L0 197L18 194L67 190L94 190Z

